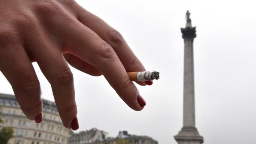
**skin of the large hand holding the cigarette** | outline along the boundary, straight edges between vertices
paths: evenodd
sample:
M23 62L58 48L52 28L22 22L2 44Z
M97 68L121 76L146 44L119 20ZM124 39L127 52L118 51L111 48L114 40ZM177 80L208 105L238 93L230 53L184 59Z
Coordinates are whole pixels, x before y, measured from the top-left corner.
M43 108L32 62L50 82L66 128L77 115L68 63L86 74L104 75L130 108L144 108L126 73L145 71L144 66L117 30L74 0L0 0L0 71L30 120Z

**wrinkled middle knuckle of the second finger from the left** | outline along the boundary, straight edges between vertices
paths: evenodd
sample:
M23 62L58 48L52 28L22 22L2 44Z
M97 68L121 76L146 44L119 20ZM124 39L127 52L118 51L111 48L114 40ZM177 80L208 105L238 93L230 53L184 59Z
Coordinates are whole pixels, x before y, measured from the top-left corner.
M73 74L71 70L65 70L57 77L58 84L70 84L73 82Z

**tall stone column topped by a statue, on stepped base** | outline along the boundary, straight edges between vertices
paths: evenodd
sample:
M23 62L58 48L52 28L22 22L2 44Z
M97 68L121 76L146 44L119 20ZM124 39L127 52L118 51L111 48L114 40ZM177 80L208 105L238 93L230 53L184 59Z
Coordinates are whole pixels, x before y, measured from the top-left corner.
M186 21L186 27L181 28L184 39L183 127L174 138L178 144L202 144L204 138L199 135L195 123L193 41L196 38L196 27L192 27L188 11Z

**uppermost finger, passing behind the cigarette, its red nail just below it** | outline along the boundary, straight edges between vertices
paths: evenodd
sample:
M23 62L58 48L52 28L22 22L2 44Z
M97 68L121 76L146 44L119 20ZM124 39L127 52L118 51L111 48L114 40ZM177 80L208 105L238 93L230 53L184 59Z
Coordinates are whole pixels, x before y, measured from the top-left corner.
M102 40L106 41L112 46L127 72L146 71L143 64L140 62L134 52L132 52L131 48L128 46L120 32L109 26L101 18L88 12L82 7L80 7L78 13L78 20L96 32L100 38L102 38ZM146 85L145 82L137 83L142 86ZM148 82L146 83L148 84Z

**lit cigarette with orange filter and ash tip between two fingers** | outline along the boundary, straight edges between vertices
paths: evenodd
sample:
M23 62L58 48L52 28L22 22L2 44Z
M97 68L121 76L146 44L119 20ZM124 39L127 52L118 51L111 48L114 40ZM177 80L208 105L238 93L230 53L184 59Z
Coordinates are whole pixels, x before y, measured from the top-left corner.
M149 81L149 80L158 80L159 72L127 72L129 78L132 81Z

